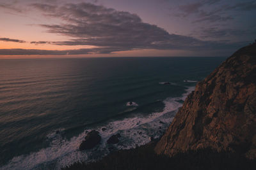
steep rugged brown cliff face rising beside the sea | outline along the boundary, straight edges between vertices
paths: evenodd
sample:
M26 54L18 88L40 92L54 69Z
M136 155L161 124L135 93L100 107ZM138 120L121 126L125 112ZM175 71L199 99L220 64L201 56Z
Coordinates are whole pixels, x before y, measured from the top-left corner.
M155 152L212 148L256 159L256 44L241 48L189 94Z

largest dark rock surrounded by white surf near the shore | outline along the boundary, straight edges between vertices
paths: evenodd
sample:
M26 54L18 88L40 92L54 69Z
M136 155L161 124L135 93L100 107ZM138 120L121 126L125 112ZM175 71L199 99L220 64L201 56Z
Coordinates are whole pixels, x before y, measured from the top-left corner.
M100 143L101 137L98 131L88 132L87 136L84 138L84 141L79 146L79 150L88 150L92 149L94 146Z

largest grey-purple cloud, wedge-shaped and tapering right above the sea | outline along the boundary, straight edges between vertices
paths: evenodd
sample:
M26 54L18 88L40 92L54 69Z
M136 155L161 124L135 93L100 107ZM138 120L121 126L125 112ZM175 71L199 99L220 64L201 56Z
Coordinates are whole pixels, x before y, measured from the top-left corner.
M47 28L47 32L73 38L70 41L51 42L54 45L99 46L97 50L99 53L134 49L198 50L214 48L216 45L189 36L169 34L157 25L142 22L136 14L95 4L51 6L54 10L45 10L44 4L33 4L33 6L44 11L45 15L61 18L65 22L65 24L41 25ZM207 44L212 44L212 47L205 46Z

